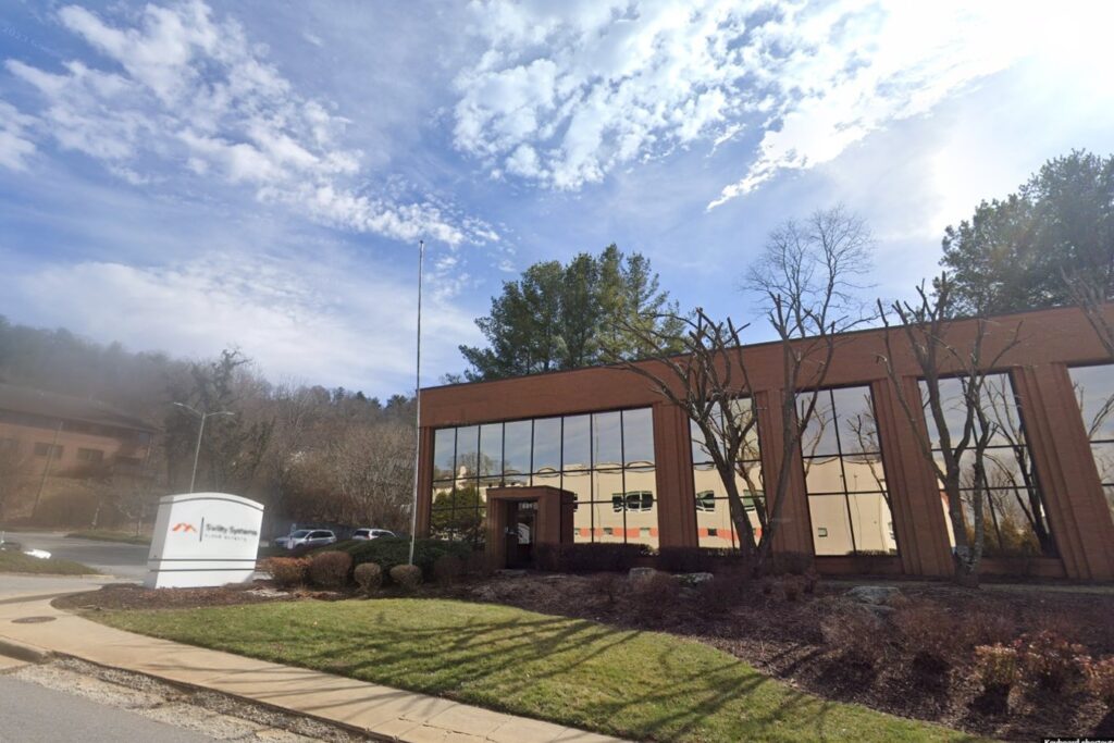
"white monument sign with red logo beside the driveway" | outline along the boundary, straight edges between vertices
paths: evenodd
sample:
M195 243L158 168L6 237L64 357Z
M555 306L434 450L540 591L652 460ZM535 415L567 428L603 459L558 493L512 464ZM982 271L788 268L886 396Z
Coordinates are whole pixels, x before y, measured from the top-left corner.
M147 588L247 583L255 574L263 505L225 492L190 492L158 501L147 557Z

